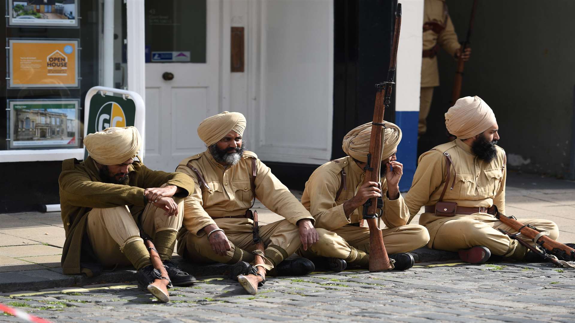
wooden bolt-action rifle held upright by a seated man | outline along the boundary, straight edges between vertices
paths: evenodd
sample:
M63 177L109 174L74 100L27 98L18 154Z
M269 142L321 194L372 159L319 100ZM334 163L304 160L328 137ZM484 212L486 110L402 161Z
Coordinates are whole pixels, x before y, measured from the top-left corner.
M367 165L365 166L366 182L376 182L381 180L381 153L384 148L384 113L392 99L392 88L397 59L397 46L399 44L399 33L401 29L401 3L397 4L396 20L393 33L392 51L389 59L389 71L387 82L375 84L377 93L375 94L375 107L373 111L373 122L371 122L371 138L369 141L369 153L367 154ZM392 269L393 265L389 261L388 253L385 250L384 238L381 230L377 226L378 218L377 198L368 199L363 205L363 219L369 225L369 271L379 271ZM381 216L381 212L379 213Z

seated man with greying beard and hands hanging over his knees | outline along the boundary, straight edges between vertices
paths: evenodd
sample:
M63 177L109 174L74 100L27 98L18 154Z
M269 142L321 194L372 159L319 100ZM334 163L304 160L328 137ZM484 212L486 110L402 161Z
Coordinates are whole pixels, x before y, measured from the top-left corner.
M313 217L255 153L245 150L244 129L243 114L228 111L198 126L198 136L208 149L182 160L177 168L196 183L184 202L178 255L194 262L236 264L231 273L234 279L247 274L255 251L254 221L247 218L247 211L258 198L285 218L259 227L268 268L275 268L275 275L309 274L314 267L308 259L284 259L302 243L307 249L317 241Z

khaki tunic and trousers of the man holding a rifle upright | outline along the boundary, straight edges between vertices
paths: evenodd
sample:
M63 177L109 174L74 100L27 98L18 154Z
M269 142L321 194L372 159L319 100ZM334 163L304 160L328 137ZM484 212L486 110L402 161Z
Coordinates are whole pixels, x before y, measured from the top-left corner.
M346 187L335 199L342 182L341 172L346 177ZM304 252L306 257L338 257L352 261L356 253L352 248L369 253L369 228L352 226L363 217L363 206L346 216L343 203L353 198L358 187L363 184L363 171L350 156L323 164L305 183L301 202L316 219L320 240ZM403 197L390 200L387 195L387 183L381 178L384 207L382 221L386 228L382 230L388 253L407 252L427 243L427 230L420 225L406 225L409 220L409 209Z

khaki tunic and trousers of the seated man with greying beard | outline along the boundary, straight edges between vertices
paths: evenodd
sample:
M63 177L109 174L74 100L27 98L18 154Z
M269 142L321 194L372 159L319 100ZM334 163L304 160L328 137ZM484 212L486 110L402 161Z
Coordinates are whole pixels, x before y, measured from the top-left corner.
M230 262L228 258L237 255L234 250L229 252L229 257L220 259L208 245L194 245L207 243L208 240L205 237L201 240L198 238L205 235L202 228L210 224L217 224L219 228L224 229L228 238L233 238L231 242L235 240L239 248L249 249L248 245L253 245L251 238L247 239L247 237L251 237L254 221L246 218L223 218L241 216L252 206L254 198L251 189L252 157L256 158L256 197L269 210L286 218L286 220L278 221L281 222L279 225L277 222L267 225L269 226L267 229L274 227L273 230L263 229L263 232L260 232L262 237L266 235L265 238L263 237L264 243L273 244L283 257L289 256L300 246L297 221L310 219L313 222L315 220L289 189L271 173L270 168L250 151L244 152L242 160L231 167L221 166L213 159L209 151L205 151L182 160L176 169L178 172L189 175L196 183L190 197L184 200L183 226L178 233L179 255L191 255L195 258L201 256L205 258L202 260L206 261L211 259L218 262ZM195 172L186 166L190 161L191 165L201 172L209 189L200 186ZM234 237L234 234L237 234L237 237ZM266 239L270 235L271 240ZM194 247L196 250L191 250L189 247ZM236 260L239 259L233 258L232 260L237 262Z

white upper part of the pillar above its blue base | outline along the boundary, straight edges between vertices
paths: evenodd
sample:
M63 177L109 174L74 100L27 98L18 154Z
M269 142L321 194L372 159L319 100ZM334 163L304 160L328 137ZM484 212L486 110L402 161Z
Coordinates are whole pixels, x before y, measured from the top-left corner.
M401 32L397 49L396 111L419 111L423 0L399 0Z

